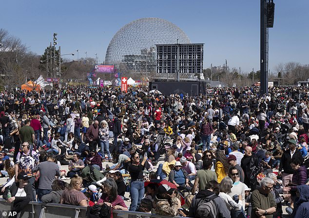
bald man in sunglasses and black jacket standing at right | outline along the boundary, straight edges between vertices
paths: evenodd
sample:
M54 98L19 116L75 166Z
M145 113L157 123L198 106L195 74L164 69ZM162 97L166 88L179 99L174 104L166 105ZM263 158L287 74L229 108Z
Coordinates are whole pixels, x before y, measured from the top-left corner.
M245 156L241 159L240 166L245 173L244 183L254 191L257 183L256 177L262 172L262 167L258 162L258 158L252 155L252 148L250 146L245 148Z

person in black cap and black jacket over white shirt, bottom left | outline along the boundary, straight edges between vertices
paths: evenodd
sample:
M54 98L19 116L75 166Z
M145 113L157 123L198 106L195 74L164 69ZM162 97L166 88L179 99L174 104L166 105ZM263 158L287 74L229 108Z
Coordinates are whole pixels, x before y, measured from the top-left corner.
M13 203L11 211L19 213L32 200L32 185L28 182L28 176L25 172L19 173L17 179L18 182L13 183L5 189L3 198L9 203ZM19 189L22 191L18 192ZM9 190L11 198L7 196ZM24 194L26 195L25 197L20 197L24 196Z

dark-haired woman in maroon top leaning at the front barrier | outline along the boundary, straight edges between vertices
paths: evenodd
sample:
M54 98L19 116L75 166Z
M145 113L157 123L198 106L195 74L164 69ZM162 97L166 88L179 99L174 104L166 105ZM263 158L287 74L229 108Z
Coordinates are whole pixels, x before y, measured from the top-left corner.
M107 178L103 183L101 198L97 201L98 205L106 204L114 210L128 211L128 207L123 199L117 194L117 184L113 178Z

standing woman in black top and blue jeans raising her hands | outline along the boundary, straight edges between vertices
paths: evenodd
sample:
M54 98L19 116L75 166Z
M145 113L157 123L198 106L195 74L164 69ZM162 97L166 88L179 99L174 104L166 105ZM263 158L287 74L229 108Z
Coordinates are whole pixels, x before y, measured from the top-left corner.
M131 175L130 183L130 195L131 195L131 205L130 211L136 211L140 204L141 199L144 197L144 179L143 179L143 169L147 156L144 155L144 159L139 163L139 155L137 153L131 156L131 165L129 166L129 172Z

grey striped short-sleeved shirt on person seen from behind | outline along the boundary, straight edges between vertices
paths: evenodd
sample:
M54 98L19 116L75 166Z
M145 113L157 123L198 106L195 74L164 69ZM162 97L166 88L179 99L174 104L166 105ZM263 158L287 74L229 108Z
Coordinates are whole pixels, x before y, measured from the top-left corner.
M57 163L44 161L34 167L34 171L39 170L39 189L52 190L55 176L60 176L60 169Z

